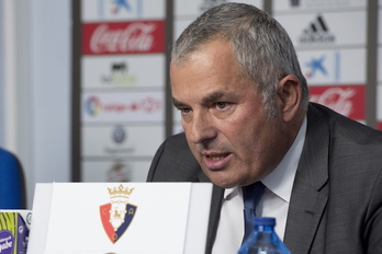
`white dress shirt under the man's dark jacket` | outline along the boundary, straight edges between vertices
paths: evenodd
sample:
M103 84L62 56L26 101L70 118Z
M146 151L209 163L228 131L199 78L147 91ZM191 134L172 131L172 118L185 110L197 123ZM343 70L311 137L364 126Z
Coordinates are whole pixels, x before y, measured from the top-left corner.
M274 230L283 240L289 203L291 199L293 181L297 170L300 157L305 141L306 116L300 128L296 139L279 165L261 182L266 190L256 208L256 215L274 217ZM212 254L237 253L244 235L244 203L240 187L227 188L221 210L216 239Z

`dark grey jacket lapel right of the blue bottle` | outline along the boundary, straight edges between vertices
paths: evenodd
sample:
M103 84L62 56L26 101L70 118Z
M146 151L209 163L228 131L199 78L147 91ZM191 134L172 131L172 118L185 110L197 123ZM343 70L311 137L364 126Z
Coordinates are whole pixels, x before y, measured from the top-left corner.
M312 105L288 212L284 242L291 253L308 253L328 198L329 125Z

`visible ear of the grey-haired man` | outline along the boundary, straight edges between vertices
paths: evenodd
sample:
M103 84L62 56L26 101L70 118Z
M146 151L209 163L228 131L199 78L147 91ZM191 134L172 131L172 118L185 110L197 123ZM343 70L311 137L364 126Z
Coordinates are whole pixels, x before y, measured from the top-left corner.
M285 76L279 81L278 97L284 123L291 122L297 114L301 105L302 89L297 77Z

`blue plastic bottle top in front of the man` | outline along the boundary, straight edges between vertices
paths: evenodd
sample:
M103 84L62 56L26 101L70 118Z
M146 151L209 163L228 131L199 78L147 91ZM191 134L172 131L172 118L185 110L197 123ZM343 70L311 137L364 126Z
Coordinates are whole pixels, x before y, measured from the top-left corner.
M254 232L238 251L238 254L291 254L274 232L276 218L255 217Z

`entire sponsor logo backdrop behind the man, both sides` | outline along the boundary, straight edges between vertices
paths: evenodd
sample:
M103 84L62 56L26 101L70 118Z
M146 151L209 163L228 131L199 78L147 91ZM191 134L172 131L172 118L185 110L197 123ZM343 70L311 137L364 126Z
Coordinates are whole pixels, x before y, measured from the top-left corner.
M145 181L158 146L167 135L182 131L180 114L168 102L171 43L198 15L222 2L229 0L80 2L81 33L75 37L80 76L74 80L80 88L80 119L74 130L80 134L80 154L74 158L80 162L74 169L75 180ZM382 0L379 19L371 21L368 4L372 1L237 2L268 11L284 26L307 79L311 101L382 129L382 34L375 48L368 38L368 24L382 27ZM368 66L370 50L378 55L378 67ZM368 83L368 68L375 68L377 82ZM375 113L371 120L367 108Z

